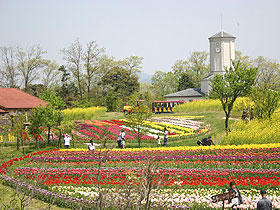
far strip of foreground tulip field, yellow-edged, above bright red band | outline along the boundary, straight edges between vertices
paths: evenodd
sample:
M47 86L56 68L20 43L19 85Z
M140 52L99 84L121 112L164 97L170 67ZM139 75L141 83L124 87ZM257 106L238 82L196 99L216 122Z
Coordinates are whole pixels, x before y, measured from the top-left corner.
M247 146L249 148L246 148ZM278 146L278 144L270 146ZM161 167L172 168L277 168L280 163L280 147L258 147L259 145L244 145L240 148L213 146L113 149L97 150L94 153L89 153L84 149L60 150L32 157L26 164L49 165L49 167L51 165L96 167L102 157L103 165L108 167L141 167L147 160L153 160Z

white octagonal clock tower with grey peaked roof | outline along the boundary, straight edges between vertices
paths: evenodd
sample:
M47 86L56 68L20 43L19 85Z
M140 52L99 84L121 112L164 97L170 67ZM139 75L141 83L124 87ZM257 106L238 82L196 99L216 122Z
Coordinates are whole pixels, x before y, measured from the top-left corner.
M234 42L236 37L221 31L211 36L210 43L210 75L201 80L201 91L208 94L211 89L210 79L215 74L224 74L225 69L229 68L235 59Z

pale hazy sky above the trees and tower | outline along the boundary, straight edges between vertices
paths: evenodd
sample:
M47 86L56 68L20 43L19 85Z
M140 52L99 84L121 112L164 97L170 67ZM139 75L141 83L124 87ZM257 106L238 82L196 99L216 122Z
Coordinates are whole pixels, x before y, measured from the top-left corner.
M40 44L62 65L62 48L96 41L116 59L143 57L152 75L209 52L222 28L243 54L280 62L279 8L279 0L0 0L0 46Z

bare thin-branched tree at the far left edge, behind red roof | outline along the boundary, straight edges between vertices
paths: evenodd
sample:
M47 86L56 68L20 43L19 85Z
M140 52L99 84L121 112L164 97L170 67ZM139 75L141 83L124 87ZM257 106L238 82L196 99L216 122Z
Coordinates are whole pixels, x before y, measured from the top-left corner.
M15 88L18 83L17 63L15 58L15 50L13 47L0 47L1 58L1 81L3 87Z

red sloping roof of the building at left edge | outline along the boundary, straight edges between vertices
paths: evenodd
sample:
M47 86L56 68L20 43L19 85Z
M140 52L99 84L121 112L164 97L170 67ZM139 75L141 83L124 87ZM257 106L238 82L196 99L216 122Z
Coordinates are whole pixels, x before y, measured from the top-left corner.
M47 103L16 88L0 88L0 106L4 108L30 109L40 106L40 104L46 106Z

